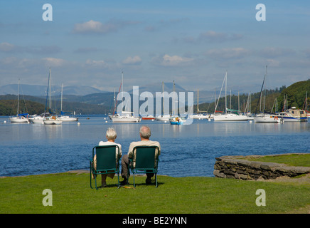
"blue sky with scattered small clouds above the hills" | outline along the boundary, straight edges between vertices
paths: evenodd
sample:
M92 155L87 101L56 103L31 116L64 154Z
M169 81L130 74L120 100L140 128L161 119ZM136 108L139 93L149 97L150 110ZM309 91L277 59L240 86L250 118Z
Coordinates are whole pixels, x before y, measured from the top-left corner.
M53 21L43 21L43 4ZM257 21L257 4L266 21ZM0 85L172 82L258 92L310 78L309 1L1 1Z

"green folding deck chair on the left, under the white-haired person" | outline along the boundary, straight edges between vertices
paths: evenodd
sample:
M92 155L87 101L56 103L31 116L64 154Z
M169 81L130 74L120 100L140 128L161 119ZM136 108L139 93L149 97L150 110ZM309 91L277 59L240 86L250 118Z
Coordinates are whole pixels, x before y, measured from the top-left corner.
M90 160L90 187L92 187L92 175L95 176L95 188L97 188L97 175L117 173L119 187L119 156L116 158L115 151L119 153L118 145L97 145L92 148L92 159ZM97 169L94 167L94 156L97 160Z

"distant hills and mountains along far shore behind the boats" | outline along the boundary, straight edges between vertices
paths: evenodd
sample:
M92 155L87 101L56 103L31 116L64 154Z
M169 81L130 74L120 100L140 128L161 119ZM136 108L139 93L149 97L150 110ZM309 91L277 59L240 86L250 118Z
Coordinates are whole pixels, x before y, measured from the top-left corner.
M275 90L267 90L266 91L266 103L267 105L272 105L274 103L274 99L278 97L279 107L283 105L283 97L285 94L288 95L289 104L295 105L296 107L302 108L304 104L304 99L306 96L306 91L310 91L310 81L301 81L294 83L289 88L286 86L282 86L281 88L276 88ZM14 88L15 87L15 88ZM175 85L175 91L179 95L179 92L191 92L185 90L181 86ZM16 113L16 110L12 108L16 105L17 100L17 85L7 85L0 87L0 115L12 115L12 113ZM60 88L59 88L60 89ZM46 107L46 94L42 93L39 90L43 90L44 93L46 90L45 86L30 86L30 85L21 85L20 90L20 110L28 110L29 113L43 113ZM63 95L63 110L65 112L73 112L82 113L82 114L105 114L112 113L114 110L114 92L105 92L102 90L97 90L96 88L87 87L87 86L68 86L63 88L65 94ZM154 96L154 105L155 105L155 93L162 91L161 83L149 84L146 86L139 86L139 94L140 99L139 105L145 102L145 98L142 98L141 93L150 92ZM164 83L164 91L171 93L173 91L173 83ZM94 93L95 92L95 93ZM98 93L99 92L99 93ZM118 91L117 91L118 92ZM6 94L6 95L1 95ZM26 95L26 93L30 93L31 95ZM66 94L70 93L70 94ZM88 93L84 95L85 93ZM132 90L129 91L132 93ZM197 104L197 91L193 91L193 103L194 103L194 111L196 111ZM82 94L82 95L78 95ZM230 92L227 93L230 95ZM208 111L209 113L213 113L214 111L214 101L218 99L219 90L215 93L215 91L201 91L199 90L199 110ZM218 103L218 110L225 110L225 100L223 98L225 96L225 92L222 91L220 102ZM252 93L251 92L251 100L252 100L252 110L257 108L258 100L260 97L260 92ZM187 95L186 95L186 104L187 103ZM236 93L232 93L232 98L229 99L229 103L232 103L232 109L239 108L239 105L245 105L247 102L248 93L240 93L240 98ZM134 101L132 96L132 103ZM23 102L27 100L26 102ZM169 107L172 107L172 100L169 100ZM26 103L27 105L23 105ZM117 102L119 105L120 101ZM308 96L308 103L310 103ZM180 105L181 103L179 103ZM52 108L53 110L60 113L60 90L52 95ZM266 107L267 107L266 105ZM132 105L133 107L133 105ZM267 110L271 110L272 107L267 107ZM15 108L16 109L16 108ZM13 111L14 110L14 111ZM154 109L155 110L155 109Z

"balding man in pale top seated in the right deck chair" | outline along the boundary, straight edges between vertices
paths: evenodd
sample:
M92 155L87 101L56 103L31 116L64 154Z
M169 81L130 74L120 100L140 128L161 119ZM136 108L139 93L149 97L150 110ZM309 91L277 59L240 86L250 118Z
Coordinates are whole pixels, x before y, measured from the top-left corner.
M159 144L159 142L149 140L149 138L151 137L151 129L149 129L149 127L141 126L139 133L140 133L141 141L130 143L127 155L124 155L122 157L122 172L121 172L121 174L122 174L122 177L124 178L124 180L122 182L120 182L120 185L127 185L127 174L129 172L129 170L128 170L128 165L129 165L128 157L130 157L130 158L133 157L134 147L139 146L139 145L144 145L144 146L156 145L159 147L159 151L156 150L156 156L159 156L161 154L161 145ZM145 180L146 185L151 184L151 177L153 177L153 176L154 176L154 173L146 173L146 180Z

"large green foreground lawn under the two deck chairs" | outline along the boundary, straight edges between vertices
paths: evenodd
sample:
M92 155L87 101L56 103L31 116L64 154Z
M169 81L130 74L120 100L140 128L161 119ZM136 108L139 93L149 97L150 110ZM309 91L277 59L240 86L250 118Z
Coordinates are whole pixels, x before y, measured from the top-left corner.
M98 178L101 182L101 178ZM159 187L136 178L136 188L90 188L89 175L61 173L0 179L0 213L291 213L310 205L309 182L257 182L216 177L159 176ZM43 206L43 190L53 192L53 206ZM266 206L258 207L258 189ZM308 209L301 209L306 213Z

